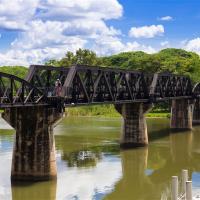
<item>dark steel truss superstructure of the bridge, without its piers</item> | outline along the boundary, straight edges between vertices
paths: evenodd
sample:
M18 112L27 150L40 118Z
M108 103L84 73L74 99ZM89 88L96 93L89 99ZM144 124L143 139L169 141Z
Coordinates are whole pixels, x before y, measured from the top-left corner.
M55 95L60 79L62 95ZM75 65L70 68L32 65L25 79L0 72L0 108L155 103L197 99L200 83L171 73Z

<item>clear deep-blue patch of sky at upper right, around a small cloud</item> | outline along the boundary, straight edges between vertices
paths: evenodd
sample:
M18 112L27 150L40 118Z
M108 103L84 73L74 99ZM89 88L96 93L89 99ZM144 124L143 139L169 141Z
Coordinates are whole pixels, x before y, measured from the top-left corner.
M163 24L165 38L185 39L199 34L200 1L198 0L121 0L124 8L122 27ZM158 18L171 16L172 21ZM123 26L124 24L124 26Z

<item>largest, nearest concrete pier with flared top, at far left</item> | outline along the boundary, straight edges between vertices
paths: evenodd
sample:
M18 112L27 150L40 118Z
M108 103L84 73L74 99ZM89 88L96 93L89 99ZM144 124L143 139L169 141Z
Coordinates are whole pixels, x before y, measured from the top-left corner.
M62 118L54 108L6 108L3 118L16 130L11 179L37 181L56 178L53 128Z

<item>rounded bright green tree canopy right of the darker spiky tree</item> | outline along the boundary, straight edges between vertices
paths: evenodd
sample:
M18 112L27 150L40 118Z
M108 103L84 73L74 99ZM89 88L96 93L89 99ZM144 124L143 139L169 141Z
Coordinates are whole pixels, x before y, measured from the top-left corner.
M172 72L190 76L200 81L199 55L182 49L164 49L156 54L141 51L124 52L118 55L100 58L104 66L124 69L143 70L146 72Z

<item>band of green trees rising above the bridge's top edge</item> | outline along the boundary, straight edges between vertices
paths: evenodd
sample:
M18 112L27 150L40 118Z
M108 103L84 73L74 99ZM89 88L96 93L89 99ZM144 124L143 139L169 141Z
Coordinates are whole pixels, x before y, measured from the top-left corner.
M147 72L168 71L190 76L194 81L199 80L200 58L193 52L182 49L164 49L155 54L141 51L123 52L107 57L97 55L87 49L79 49L76 53L67 52L60 60L49 60L47 65L69 67L73 64L100 65L106 67L143 70Z

